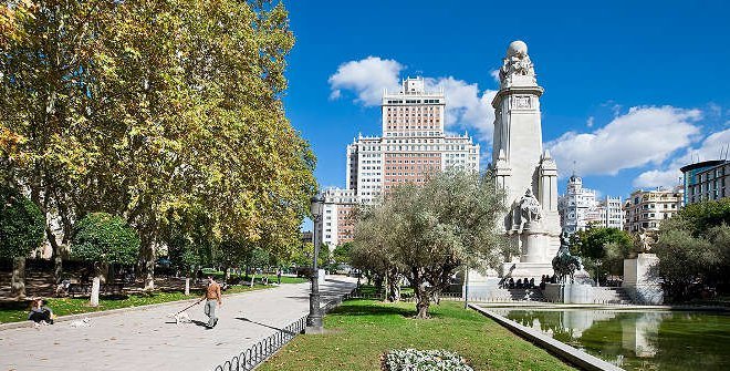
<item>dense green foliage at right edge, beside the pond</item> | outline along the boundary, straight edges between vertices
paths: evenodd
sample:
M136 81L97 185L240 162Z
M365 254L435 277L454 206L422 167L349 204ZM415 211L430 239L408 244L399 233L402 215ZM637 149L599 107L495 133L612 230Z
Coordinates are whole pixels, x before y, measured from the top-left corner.
M687 300L730 282L730 199L688 205L664 220L651 253L670 297ZM723 293L723 292L721 292Z

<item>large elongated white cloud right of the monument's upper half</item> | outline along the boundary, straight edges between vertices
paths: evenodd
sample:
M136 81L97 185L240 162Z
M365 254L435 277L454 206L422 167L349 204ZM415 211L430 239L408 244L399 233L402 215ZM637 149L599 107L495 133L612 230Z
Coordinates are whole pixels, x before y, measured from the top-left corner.
M700 118L699 110L633 107L604 127L567 132L546 147L563 169L575 161L581 175L615 175L625 168L659 165L687 147L699 133L696 122Z

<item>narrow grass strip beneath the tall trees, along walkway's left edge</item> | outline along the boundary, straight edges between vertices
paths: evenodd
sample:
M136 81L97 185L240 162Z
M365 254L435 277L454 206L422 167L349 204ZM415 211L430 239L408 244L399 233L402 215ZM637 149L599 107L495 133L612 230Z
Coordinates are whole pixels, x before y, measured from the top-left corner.
M271 286L233 286L223 292L223 296L261 290L270 288ZM152 296L147 295L131 295L121 296L118 298L102 297L98 301L98 307L90 307L88 298L49 298L49 307L53 313L58 316L86 313L109 309L139 307L160 302L169 302L185 299L195 299L202 297L201 290L191 290L191 295L186 296L181 291L175 292L155 292ZM19 303L4 303L0 308L0 323L19 322L28 320L29 305L25 302Z

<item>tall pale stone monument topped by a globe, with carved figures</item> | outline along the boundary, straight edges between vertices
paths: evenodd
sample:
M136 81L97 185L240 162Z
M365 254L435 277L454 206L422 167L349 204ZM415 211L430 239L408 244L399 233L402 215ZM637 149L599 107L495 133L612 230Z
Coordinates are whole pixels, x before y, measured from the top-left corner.
M492 166L505 192L508 213L500 228L519 255L502 265L502 277L552 275L560 248L557 166L542 148L540 96L528 45L510 43L499 71L500 91L492 101L494 140Z

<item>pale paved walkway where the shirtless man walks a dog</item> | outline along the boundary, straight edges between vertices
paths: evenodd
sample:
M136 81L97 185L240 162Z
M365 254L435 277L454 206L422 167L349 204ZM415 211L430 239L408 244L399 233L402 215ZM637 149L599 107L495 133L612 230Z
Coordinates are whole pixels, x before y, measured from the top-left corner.
M321 284L323 297L350 292L355 281L333 277ZM39 329L0 331L0 370L212 370L309 312L309 284L223 297L218 326L207 330L204 306L188 310L194 323L167 318L185 306L91 318L91 327L56 322ZM324 301L324 300L323 300Z

